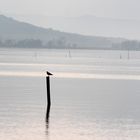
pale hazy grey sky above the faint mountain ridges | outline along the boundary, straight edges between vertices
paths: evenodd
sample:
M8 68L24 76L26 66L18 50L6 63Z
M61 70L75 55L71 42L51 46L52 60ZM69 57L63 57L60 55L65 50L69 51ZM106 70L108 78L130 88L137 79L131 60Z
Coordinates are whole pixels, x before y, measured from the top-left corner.
M140 20L140 0L0 0L0 13Z

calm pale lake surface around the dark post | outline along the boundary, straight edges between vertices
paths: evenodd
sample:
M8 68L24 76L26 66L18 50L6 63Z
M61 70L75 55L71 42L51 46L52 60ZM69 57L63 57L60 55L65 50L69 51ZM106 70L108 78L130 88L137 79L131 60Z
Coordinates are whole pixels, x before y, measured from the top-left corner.
M0 140L139 140L139 83L140 52L0 49Z

